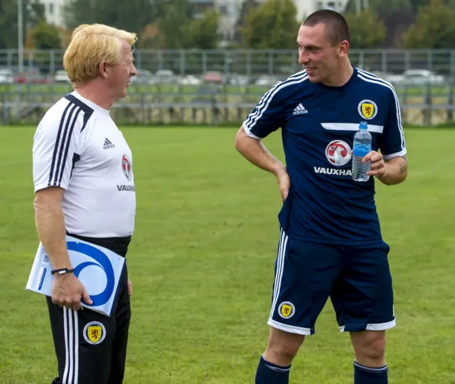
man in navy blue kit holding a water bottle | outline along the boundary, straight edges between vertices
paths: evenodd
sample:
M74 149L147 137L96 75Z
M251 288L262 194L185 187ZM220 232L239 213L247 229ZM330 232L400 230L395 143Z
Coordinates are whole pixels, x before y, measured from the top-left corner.
M297 38L304 70L269 89L235 139L247 160L277 177L283 200L271 329L256 384L289 383L291 362L328 297L341 331L350 332L354 383L387 383L385 330L395 327L395 312L374 179L406 179L406 145L395 90L350 64L349 41L339 13L306 18ZM360 121L373 136L368 182L351 175ZM286 165L261 142L280 127Z

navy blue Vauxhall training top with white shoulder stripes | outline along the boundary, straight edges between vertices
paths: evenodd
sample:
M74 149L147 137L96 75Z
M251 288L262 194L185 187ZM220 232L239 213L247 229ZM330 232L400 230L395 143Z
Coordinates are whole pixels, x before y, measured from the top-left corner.
M291 189L279 212L290 238L362 245L382 241L375 180L351 175L353 136L368 122L373 150L386 160L406 155L400 105L392 85L354 68L342 87L313 84L305 71L277 82L247 116L248 136L282 128Z

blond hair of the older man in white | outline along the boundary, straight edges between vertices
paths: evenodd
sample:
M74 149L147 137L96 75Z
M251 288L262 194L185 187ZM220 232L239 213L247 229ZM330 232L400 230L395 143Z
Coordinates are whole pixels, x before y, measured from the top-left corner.
M100 62L116 64L122 40L130 45L137 41L136 33L105 26L82 24L71 36L70 45L63 55L63 67L71 82L86 82L100 75Z

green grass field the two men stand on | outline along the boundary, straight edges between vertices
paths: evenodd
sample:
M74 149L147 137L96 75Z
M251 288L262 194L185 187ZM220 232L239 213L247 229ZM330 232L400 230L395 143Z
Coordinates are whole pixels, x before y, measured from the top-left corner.
M137 227L125 384L251 384L267 342L280 207L274 177L233 148L235 129L124 128L134 153ZM24 289L37 237L33 128L0 128L0 384L56 373L47 308ZM392 384L455 383L454 130L407 129L410 176L378 183L391 246L397 327ZM266 145L282 157L280 138ZM327 305L291 383L353 382L348 334Z

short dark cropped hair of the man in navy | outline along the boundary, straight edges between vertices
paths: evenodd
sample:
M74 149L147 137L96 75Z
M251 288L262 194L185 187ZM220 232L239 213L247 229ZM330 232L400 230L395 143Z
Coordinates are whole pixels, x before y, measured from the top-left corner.
M336 11L331 9L321 9L311 13L304 22L303 26L314 27L316 24L323 23L326 25L326 33L328 39L333 45L346 40L350 43L350 32L346 18Z

